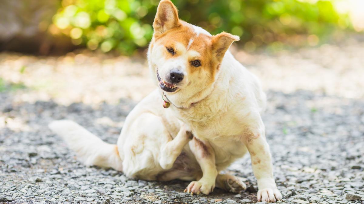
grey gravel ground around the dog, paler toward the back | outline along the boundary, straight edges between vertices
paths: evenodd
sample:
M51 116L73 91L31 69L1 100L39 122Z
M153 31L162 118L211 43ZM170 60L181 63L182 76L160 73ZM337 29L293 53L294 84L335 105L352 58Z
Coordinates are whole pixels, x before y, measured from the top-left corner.
M268 93L263 119L284 197L277 203L364 203L363 45L348 41L274 56L235 52ZM323 62L318 54L337 57ZM183 193L189 182L130 180L85 167L48 130L50 121L67 118L115 143L128 112L153 89L147 75L140 59L0 53L0 203L256 203L249 155L226 170L244 178L247 191L191 196ZM51 83L36 86L45 82Z

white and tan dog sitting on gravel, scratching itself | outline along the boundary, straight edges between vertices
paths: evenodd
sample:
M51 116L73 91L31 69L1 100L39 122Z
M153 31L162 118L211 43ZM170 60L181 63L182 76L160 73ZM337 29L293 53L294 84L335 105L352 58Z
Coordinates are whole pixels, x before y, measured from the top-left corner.
M112 167L130 178L190 180L185 191L192 194L207 195L215 186L245 189L239 178L219 172L249 151L258 200L282 199L260 117L265 94L228 50L239 37L211 36L180 20L169 0L159 3L153 28L148 60L158 88L127 116L117 145L72 121L50 128L86 165ZM168 109L162 98L171 103Z

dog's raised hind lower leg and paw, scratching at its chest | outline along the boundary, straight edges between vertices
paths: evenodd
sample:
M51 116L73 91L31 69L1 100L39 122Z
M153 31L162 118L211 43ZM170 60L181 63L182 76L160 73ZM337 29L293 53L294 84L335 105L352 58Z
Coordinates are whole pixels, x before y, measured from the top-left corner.
M177 136L161 147L161 157L159 164L165 170L172 168L173 163L177 157L181 154L183 147L193 138L190 131L186 130L185 126L181 126Z

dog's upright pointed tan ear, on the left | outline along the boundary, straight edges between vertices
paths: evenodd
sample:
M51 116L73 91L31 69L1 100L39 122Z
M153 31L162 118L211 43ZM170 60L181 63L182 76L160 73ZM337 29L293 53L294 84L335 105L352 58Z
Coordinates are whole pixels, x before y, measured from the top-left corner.
M170 0L160 1L153 23L154 36L158 36L179 25L178 11L174 4Z

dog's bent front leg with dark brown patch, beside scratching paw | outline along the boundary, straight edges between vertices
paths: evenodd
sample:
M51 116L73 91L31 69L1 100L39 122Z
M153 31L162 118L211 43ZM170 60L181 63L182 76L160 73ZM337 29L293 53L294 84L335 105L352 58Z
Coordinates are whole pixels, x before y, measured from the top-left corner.
M191 195L193 193L199 194L200 192L209 195L215 188L218 174L215 166L215 152L208 142L197 138L193 138L189 142L189 146L201 167L202 178L198 181L192 181L185 189L185 192L191 192Z

